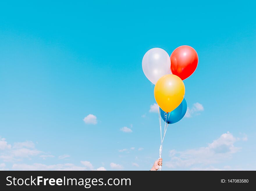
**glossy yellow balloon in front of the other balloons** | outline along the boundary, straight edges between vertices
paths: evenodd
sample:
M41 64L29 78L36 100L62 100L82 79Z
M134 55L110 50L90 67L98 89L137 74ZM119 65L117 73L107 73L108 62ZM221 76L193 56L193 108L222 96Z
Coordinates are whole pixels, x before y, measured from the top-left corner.
M154 88L154 96L157 104L163 111L173 111L182 102L185 95L183 81L173 74L161 77Z

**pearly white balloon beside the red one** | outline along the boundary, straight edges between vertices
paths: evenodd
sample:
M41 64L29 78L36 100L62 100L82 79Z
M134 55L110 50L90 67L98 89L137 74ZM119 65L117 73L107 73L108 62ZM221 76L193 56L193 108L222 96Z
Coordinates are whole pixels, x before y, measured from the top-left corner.
M153 84L163 75L171 74L171 61L168 53L162 48L152 48L142 59L142 70Z

